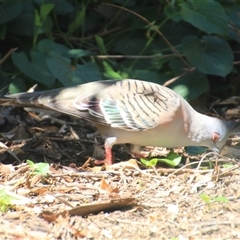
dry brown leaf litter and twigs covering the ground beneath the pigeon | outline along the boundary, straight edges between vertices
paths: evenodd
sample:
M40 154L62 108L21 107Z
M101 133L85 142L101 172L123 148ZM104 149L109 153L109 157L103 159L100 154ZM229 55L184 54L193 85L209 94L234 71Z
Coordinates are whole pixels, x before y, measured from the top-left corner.
M94 166L103 140L91 124L0 115L1 239L240 239L238 161L175 149L178 168L146 168L119 146L113 166Z

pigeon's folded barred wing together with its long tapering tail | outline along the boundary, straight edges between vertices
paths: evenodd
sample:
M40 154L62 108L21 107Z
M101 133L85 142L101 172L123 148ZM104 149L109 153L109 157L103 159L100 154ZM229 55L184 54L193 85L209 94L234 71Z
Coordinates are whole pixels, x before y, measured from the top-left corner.
M131 79L12 94L7 98L8 105L47 108L128 131L144 131L171 122L181 101L185 101L169 88Z

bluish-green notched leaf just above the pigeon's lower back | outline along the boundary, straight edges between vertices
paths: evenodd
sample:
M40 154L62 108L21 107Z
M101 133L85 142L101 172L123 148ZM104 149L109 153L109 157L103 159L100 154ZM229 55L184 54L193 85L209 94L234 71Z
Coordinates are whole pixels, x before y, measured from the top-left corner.
M101 79L97 66L91 62L73 66L68 58L55 52L52 52L46 61L52 74L63 86L74 86Z

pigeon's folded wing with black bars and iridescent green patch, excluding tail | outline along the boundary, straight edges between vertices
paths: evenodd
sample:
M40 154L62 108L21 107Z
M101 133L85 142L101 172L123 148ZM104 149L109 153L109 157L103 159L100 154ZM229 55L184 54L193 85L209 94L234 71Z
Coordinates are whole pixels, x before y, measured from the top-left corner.
M172 121L182 100L166 87L124 80L97 94L78 96L74 106L113 128L144 131Z

